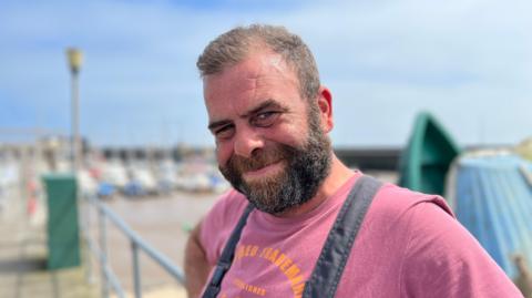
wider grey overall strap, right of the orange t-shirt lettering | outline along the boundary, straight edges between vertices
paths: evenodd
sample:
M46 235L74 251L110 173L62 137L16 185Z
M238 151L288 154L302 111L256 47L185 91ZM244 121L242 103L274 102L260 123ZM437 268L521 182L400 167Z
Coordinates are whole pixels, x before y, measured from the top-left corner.
M305 284L303 298L335 297L364 216L380 185L369 176L358 178L336 217L310 279Z

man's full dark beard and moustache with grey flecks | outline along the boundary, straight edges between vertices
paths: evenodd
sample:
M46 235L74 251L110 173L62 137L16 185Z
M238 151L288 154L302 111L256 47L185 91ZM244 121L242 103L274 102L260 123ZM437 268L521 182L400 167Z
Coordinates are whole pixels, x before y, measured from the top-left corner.
M231 185L259 210L280 214L313 198L331 164L330 141L319 125L316 107L308 115L309 132L304 144L276 143L246 158L233 155L219 171ZM243 173L280 162L284 169L260 181L246 182Z

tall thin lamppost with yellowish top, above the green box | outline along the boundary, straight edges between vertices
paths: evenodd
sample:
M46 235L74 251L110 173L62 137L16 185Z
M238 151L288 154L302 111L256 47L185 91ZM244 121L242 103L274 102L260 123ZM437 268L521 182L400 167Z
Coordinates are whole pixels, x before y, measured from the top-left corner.
M72 79L72 100L71 100L71 138L70 150L72 158L72 172L75 174L80 168L81 161L81 144L80 144L80 90L79 90L79 73L81 64L83 63L83 53L75 48L66 49L66 56L70 65L70 73Z

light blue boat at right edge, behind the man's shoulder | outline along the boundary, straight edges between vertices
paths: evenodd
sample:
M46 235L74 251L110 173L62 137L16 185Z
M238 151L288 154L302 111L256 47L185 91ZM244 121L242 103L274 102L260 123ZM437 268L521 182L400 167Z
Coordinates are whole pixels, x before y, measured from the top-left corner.
M510 151L471 152L451 173L456 186L448 197L458 220L510 278L526 275L532 269L532 163Z

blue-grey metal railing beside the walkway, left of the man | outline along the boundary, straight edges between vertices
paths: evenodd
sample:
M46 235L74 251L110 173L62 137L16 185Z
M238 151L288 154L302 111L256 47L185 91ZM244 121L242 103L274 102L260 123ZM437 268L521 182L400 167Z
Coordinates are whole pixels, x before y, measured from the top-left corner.
M116 275L113 273L108 260L108 229L106 220L111 222L116 226L122 234L127 238L131 245L132 253L132 263L133 263L133 285L134 285L134 297L142 297L142 279L141 279L141 265L139 263L140 250L144 251L152 260L158 264L163 269L166 270L171 276L173 276L182 285L185 284L185 275L183 270L174 265L172 260L165 255L157 251L155 248L150 246L144 239L142 239L139 234L131 229L124 220L117 216L111 208L109 208L104 203L102 203L96 196L82 196L89 205L92 205L98 210L98 225L99 225L99 242L96 246L95 242L91 237L90 232L90 209L85 212L85 218L82 223L83 227L83 238L88 245L90 254L92 254L98 261L100 263L100 274L102 279L102 297L108 298L110 288L114 290L117 297L125 297L124 289L120 285L120 280ZM91 260L88 260L88 277L92 277L92 267Z

